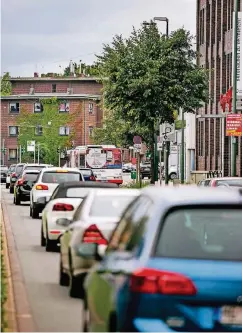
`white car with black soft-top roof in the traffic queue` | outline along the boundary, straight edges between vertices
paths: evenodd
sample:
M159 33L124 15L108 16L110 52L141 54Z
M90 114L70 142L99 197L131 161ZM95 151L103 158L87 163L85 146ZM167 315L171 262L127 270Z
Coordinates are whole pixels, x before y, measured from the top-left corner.
M65 182L57 186L48 200L42 197L43 204L47 203L42 212L41 246L46 251L56 251L60 235L67 229L58 224L59 219L71 220L84 197L92 188L117 187L115 184L100 184L96 182Z

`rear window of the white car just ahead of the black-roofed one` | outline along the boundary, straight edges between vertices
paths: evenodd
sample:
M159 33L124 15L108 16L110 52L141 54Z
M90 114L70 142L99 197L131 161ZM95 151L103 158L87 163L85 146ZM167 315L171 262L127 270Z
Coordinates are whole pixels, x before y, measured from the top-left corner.
M43 183L49 184L61 184L64 182L71 182L71 181L81 181L82 176L80 173L77 172L55 172L49 171L44 172L42 176Z

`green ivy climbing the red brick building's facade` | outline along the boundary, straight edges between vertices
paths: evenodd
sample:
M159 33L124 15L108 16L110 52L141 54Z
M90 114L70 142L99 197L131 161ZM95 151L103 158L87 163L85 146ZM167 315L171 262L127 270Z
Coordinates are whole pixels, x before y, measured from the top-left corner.
M57 165L57 149L59 147L61 149L70 147L75 132L81 130L78 128L78 126L81 126L78 114L80 114L79 111L82 105L74 113L69 114L66 112L59 113L60 101L57 101L56 98L43 99L40 103L43 107L43 112L29 113L27 110L21 110L21 114L17 119L17 125L20 128L18 144L26 148L27 141L35 141L36 145L40 145L41 156L44 162ZM61 126L69 126L71 128L70 135L59 135ZM36 130L42 130L42 135L37 135ZM28 161L29 158L28 153L23 156L23 160Z

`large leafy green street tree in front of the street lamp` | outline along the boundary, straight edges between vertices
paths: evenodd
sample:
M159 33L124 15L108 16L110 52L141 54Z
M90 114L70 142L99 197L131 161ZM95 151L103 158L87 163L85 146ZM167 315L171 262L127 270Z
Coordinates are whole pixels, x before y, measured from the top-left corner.
M157 125L174 122L174 110L194 112L207 101L208 76L196 65L192 41L184 29L166 38L151 22L127 39L115 36L98 56L104 107L145 129L143 139L151 147ZM154 151L154 170L153 162Z

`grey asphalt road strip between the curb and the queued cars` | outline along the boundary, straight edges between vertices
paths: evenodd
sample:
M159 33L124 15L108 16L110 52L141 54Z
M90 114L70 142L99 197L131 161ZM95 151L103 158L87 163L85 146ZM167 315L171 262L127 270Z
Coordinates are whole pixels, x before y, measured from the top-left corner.
M38 332L80 332L81 306L58 284L59 253L40 246L41 219L29 217L29 205L15 206L13 195L1 186Z

